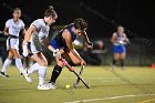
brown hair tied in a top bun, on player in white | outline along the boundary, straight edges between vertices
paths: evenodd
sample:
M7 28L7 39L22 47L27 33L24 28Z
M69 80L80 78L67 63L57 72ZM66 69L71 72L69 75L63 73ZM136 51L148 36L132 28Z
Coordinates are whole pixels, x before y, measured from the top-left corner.
M51 16L52 16L52 18L56 18L58 17L58 14L54 11L53 7L49 6L48 10L45 10L45 12L44 12L44 17L51 17Z

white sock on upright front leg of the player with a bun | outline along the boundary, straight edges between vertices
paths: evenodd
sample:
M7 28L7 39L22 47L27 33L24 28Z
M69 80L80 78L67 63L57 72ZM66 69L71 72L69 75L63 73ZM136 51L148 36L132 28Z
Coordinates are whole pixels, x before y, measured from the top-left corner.
M46 66L39 68L39 85L44 84L44 79L46 74Z

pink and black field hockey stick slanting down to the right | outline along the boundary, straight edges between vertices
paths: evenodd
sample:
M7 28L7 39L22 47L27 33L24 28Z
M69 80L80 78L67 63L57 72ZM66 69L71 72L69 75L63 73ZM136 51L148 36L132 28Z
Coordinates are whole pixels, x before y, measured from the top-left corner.
M84 79L82 79L82 78L74 71L74 69L73 69L63 58L61 58L61 61L65 64L65 66L66 66L71 72L73 72L73 73L82 81L82 83L83 83L87 89L90 89L89 83L86 83L86 82L84 81Z

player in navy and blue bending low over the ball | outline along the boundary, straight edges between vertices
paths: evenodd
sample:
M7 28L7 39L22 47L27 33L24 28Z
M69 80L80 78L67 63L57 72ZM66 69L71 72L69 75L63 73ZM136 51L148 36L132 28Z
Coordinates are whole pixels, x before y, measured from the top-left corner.
M55 89L54 84L60 75L64 64L60 60L61 56L68 56L72 66L76 64L85 65L86 62L80 56L78 51L74 49L73 41L78 35L83 35L86 40L87 48L92 48L92 42L90 42L87 34L85 32L87 23L83 19L76 19L73 23L66 25L60 31L60 33L51 40L51 47L49 49L53 51L53 54L56 56L56 65L53 69L49 86ZM59 51L56 51L59 49Z

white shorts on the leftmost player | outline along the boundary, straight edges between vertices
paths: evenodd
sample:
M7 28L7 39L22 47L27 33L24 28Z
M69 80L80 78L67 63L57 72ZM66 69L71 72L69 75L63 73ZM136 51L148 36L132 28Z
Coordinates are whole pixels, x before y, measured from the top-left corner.
M19 50L19 38L9 37L7 39L7 50L9 50L10 48Z

